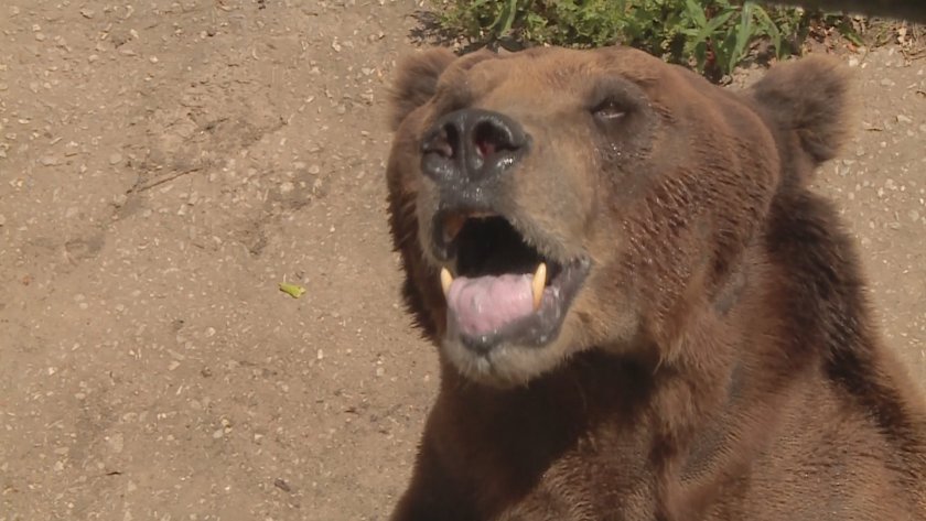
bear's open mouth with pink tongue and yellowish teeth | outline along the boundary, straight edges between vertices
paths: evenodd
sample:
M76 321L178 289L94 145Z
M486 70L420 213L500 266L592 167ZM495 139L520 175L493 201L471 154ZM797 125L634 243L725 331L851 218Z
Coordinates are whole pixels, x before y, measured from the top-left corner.
M489 213L438 214L434 243L449 264L441 270L448 335L480 352L554 339L590 265L543 254Z

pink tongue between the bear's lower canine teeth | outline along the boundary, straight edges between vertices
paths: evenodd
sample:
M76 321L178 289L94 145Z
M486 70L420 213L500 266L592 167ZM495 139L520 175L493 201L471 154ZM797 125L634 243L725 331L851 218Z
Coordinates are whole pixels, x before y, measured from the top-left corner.
M454 279L446 296L460 332L467 336L494 333L534 311L531 275Z

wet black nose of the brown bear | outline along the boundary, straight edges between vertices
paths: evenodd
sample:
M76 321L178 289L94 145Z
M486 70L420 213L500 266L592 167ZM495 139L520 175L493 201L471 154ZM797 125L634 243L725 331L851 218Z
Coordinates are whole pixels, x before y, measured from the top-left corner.
M489 181L520 159L528 141L521 126L503 113L456 110L424 134L421 169L438 183Z

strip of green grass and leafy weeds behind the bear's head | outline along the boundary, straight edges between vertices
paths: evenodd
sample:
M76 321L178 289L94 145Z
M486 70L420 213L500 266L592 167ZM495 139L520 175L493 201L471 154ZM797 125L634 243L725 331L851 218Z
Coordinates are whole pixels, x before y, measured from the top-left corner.
M766 57L799 54L811 24L840 28L841 14L731 0L432 0L441 29L472 45L517 41L570 47L622 43L713 79L762 47Z

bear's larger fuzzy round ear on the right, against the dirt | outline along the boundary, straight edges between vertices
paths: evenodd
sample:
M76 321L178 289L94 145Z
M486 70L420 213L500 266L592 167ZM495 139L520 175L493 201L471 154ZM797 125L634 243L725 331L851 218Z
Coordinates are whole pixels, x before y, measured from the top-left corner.
M816 164L836 156L851 138L852 82L837 58L809 56L773 67L752 97L784 132L794 132Z

